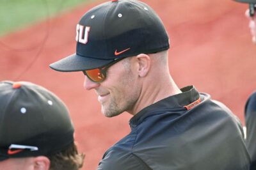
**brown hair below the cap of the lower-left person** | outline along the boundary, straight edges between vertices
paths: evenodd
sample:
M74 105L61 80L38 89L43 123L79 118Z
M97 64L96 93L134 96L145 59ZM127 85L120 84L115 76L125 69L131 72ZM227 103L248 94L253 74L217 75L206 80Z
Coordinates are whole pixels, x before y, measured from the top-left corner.
M50 170L77 170L83 167L84 153L78 153L75 143L47 157L51 161Z

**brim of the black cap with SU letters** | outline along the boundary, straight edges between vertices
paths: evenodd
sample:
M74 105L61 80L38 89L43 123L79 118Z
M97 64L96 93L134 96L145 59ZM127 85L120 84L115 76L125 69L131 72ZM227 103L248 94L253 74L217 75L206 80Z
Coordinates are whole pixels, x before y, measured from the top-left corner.
M111 63L111 60L86 58L77 54L72 54L67 58L60 59L55 63L52 63L50 67L53 70L59 72L79 72L82 70L91 70L93 68L99 68L104 65Z

